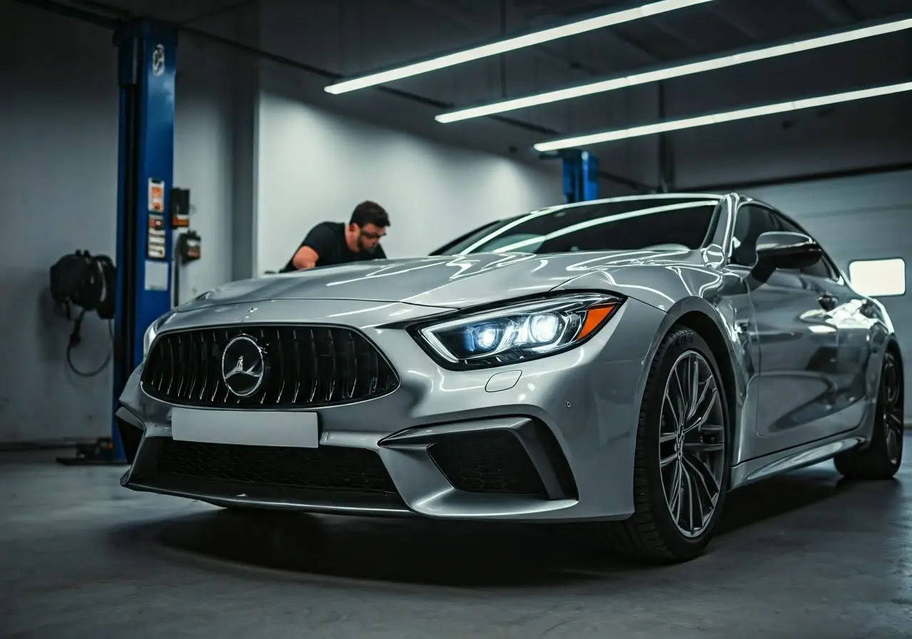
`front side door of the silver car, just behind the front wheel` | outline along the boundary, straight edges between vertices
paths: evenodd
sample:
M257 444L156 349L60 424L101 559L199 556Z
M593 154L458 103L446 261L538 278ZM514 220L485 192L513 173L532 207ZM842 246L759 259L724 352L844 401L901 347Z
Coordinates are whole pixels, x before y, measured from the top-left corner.
M736 463L830 434L839 334L820 293L797 272L776 270L765 281L750 275L757 238L778 230L771 208L751 201L739 206L729 267L741 272L749 290L751 349L759 365L745 404L753 427L741 428Z

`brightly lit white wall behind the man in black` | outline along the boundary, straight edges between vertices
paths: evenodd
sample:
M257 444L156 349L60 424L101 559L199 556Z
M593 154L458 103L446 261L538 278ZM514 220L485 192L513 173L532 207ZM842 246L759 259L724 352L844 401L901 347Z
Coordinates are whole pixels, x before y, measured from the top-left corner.
M264 93L259 105L257 272L362 200L389 211L389 257L427 255L484 222L563 201L560 173L348 119ZM557 167L559 168L559 167Z

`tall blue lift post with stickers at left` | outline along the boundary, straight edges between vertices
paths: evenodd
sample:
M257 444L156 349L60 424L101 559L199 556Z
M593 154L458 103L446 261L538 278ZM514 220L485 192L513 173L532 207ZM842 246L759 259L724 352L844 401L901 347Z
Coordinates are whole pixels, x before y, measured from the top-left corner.
M146 329L171 309L171 217L174 173L174 77L177 32L150 20L125 23L119 48L114 408L142 361ZM117 423L112 461L124 461Z

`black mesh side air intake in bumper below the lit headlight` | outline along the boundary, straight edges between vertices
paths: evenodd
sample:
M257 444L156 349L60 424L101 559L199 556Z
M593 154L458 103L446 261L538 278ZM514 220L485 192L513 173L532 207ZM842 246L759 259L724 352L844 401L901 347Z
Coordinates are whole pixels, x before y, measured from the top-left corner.
M457 490L546 497L532 459L507 429L447 435L428 455Z

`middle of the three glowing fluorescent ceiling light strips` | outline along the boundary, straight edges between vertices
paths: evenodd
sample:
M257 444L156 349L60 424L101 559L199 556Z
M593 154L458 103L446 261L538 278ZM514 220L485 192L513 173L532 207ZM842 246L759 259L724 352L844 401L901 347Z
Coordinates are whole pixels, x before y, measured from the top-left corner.
M600 80L598 82L591 82L589 84L570 87L568 89L547 91L545 93L539 93L537 95L527 96L525 98L503 100L501 102L486 104L479 107L450 111L448 113L441 113L440 115L435 116L435 120L447 124L449 122L469 120L471 118L481 118L482 116L494 115L496 113L503 113L506 111L528 109L529 107L548 104L549 102L573 100L574 98L581 98L583 96L593 95L596 93L605 93L607 91L613 91L616 89L625 89L627 87L633 87L637 84L647 84L648 82L658 82L671 78L680 78L682 76L689 76L694 73L713 71L718 68L735 67L746 62L755 62L757 60L788 56L793 53L809 51L815 48L832 47L833 45L852 42L853 40L882 36L888 33L896 33L896 31L903 31L909 28L912 28L912 18L895 20L892 22L852 29L851 31L843 31L842 33L831 34L828 36L813 37L808 40L801 40L799 42L793 42L784 45L775 45L773 47L764 47L754 49L752 51L744 51L742 53L722 56L720 58L712 58L709 60L701 60L700 62L682 64L675 67L658 68L652 71L636 73L634 75L621 78Z

